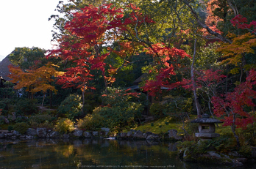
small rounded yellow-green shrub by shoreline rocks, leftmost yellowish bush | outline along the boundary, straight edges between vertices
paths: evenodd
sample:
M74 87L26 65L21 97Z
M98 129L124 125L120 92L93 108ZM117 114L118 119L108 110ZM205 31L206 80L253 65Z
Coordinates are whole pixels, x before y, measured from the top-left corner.
M65 134L68 132L72 132L74 130L74 121L65 118L58 119L54 129L57 132Z

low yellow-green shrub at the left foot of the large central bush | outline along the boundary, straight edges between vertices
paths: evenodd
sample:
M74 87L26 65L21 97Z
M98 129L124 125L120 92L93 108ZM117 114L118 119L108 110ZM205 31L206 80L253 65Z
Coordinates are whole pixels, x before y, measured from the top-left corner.
M83 119L79 119L77 127L82 130L96 131L101 127L105 127L104 118L97 113L88 114Z

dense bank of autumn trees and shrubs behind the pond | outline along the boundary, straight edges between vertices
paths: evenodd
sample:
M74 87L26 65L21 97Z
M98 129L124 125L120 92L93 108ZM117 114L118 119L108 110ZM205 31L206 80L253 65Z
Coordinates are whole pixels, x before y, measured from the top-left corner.
M190 125L208 113L255 145L254 0L69 0L56 10L54 50L10 54L2 116L120 132L144 116Z

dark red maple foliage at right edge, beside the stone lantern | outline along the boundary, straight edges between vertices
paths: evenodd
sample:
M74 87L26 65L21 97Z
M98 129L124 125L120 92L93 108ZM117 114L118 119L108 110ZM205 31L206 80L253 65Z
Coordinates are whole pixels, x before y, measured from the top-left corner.
M254 107L253 99L256 99L256 91L253 87L256 85L256 71L251 70L246 82L241 83L234 91L223 94L220 97L213 97L214 113L216 116L224 116L224 125L245 128L248 124L255 121L252 113L246 108Z

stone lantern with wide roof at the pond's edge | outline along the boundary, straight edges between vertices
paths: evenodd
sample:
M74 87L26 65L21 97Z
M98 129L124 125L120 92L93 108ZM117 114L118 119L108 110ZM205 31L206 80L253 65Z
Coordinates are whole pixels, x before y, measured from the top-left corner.
M215 124L222 122L217 119L210 118L208 114L202 115L202 118L195 119L191 121L191 123L199 123L199 132L195 134L197 138L210 140L220 136L218 133L215 133Z

